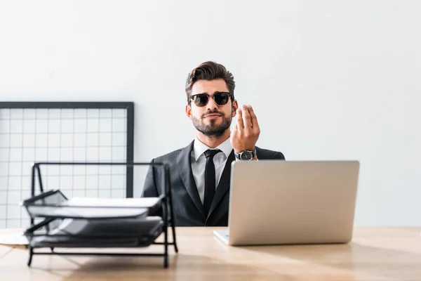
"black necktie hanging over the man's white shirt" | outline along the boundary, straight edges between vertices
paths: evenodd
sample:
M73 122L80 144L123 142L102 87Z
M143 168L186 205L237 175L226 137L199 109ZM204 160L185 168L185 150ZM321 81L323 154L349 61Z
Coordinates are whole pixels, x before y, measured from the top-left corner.
M215 164L213 164L213 157L221 150L206 150L206 167L205 167L205 197L203 199L203 211L208 217L210 204L212 204L213 195L215 195Z

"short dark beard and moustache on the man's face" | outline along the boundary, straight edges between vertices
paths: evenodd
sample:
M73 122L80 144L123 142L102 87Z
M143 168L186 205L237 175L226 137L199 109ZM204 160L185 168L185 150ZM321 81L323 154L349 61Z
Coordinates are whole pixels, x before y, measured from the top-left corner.
M218 114L222 117L222 122L217 124L218 120L210 119L210 124L205 124L203 119L206 115L210 114ZM224 132L231 126L232 122L232 115L225 117L224 112L220 112L218 110L208 111L201 116L201 118L192 117L193 125L196 127L197 131L203 133L203 135L208 136L210 138L219 138L224 134Z

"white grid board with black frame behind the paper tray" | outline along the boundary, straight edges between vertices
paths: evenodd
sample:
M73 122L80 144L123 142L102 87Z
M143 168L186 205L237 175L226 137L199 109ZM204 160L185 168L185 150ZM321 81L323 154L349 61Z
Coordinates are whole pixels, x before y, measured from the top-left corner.
M34 162L133 162L134 103L0 102L0 228L29 218ZM133 166L48 166L45 189L72 197L133 197Z

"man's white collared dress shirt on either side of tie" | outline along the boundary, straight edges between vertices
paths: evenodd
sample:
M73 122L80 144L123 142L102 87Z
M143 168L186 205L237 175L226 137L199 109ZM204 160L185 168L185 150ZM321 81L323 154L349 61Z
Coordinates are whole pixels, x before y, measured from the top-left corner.
M205 167L206 167L206 156L204 152L210 149L208 145L205 145L196 137L194 139L192 154L190 159L192 159L192 172L194 181L196 182L197 191L199 191L200 200L203 204L203 198L205 197ZM229 154L232 152L231 141L228 138L227 141L221 143L218 148L222 152L217 153L213 157L213 164L215 164L215 189L218 187L222 171L224 171L225 163Z

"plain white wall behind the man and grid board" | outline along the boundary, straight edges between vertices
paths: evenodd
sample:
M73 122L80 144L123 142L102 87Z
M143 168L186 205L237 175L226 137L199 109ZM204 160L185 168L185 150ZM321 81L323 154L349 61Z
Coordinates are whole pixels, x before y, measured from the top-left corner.
M185 78L216 60L255 107L260 147L361 161L356 225L420 225L420 11L397 0L3 0L0 96L133 100L135 159L149 161L194 137Z

